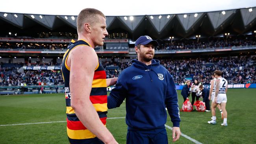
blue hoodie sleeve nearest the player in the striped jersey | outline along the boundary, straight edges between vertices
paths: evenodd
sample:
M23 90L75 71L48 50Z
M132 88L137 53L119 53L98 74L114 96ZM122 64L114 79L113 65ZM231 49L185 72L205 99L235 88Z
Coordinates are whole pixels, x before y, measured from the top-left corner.
M108 109L113 109L116 107L120 107L124 99L126 98L127 94L127 86L124 81L124 77L121 75L119 76L115 88L111 90L108 96Z

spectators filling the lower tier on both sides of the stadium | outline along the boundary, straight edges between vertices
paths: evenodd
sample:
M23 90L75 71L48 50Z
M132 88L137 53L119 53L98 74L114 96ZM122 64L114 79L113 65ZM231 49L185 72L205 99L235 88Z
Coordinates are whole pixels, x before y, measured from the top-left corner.
M171 75L177 85L183 85L186 79L198 79L200 83L209 84L211 72L221 70L223 77L229 84L256 83L256 56L237 56L237 57L215 57L160 60ZM41 65L35 64L35 65ZM43 64L46 65L46 64ZM50 64L52 65L52 64ZM59 64L57 64L59 65ZM107 78L118 77L124 68L132 65L130 60L125 62L113 62L102 60L102 65L107 69L111 66L115 69L106 70ZM116 68L117 67L117 68ZM18 67L0 67L0 86L8 85L63 85L61 71L50 70L24 70L17 72Z

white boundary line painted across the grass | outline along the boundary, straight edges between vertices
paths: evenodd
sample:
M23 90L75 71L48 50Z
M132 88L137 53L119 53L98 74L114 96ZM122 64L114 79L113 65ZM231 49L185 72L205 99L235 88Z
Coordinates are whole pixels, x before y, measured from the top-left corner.
M118 118L125 118L125 117L114 117L114 118L108 118L108 119L118 119ZM67 122L67 121L35 122L35 123L24 123L24 124L6 124L6 125L0 125L0 126L20 126L20 125L30 125L30 124L50 124L50 123L58 123L58 122ZM165 127L167 127L168 129L173 130L172 127L167 126L166 124L165 124ZM196 144L202 144L201 142L198 142L197 140L195 140L195 139L193 139L193 138L191 138L191 137L189 137L189 136L187 136L187 135L185 135L183 133L181 133L181 135L182 135L182 137L185 137L185 138L191 140L192 142L195 142Z

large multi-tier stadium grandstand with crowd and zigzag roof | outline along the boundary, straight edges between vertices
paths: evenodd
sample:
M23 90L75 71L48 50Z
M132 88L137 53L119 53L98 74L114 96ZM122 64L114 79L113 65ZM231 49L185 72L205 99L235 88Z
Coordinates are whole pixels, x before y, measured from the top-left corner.
M61 61L76 40L71 15L0 13L0 94L63 92ZM173 75L209 85L215 69L229 84L256 83L256 7L204 13L106 16L108 37L95 48L108 78L136 59L134 42L149 35L159 42L155 59ZM223 63L221 63L221 61ZM25 86L24 86L25 85Z

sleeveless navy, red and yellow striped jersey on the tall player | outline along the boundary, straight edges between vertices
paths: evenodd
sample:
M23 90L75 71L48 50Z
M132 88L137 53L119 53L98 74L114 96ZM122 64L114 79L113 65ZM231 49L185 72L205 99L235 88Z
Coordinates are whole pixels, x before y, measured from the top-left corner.
M74 109L72 109L70 105L72 95L70 94L69 87L70 68L67 65L67 58L70 54L70 51L72 51L77 46L90 46L90 44L83 40L72 40L69 46L67 47L67 51L63 55L63 61L61 66L61 71L65 83L65 99L67 108L67 135L69 137L69 141L72 141L71 143L82 143L83 140L96 137L93 133L91 133L91 131L89 131L85 126L83 126L82 122L80 122L80 120L76 116ZM106 72L104 70L104 67L102 66L102 63L100 62L100 59L98 59L98 66L95 68L93 76L90 100L93 103L93 106L95 107L95 110L97 111L98 116L104 125L106 125L108 113L108 98L106 87Z

